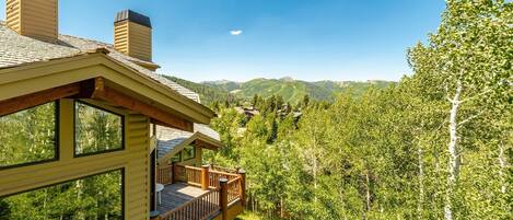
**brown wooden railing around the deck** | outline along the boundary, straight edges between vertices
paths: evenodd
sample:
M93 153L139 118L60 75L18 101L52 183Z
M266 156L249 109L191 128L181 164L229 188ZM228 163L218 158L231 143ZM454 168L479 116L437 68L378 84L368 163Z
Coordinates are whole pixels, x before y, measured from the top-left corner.
M186 165L168 165L158 169L156 180L162 184L185 182L201 187L208 193L164 213L164 220L201 220L221 210L223 215L228 205L241 201L245 206L245 173L226 173L210 170L210 166L195 167Z

